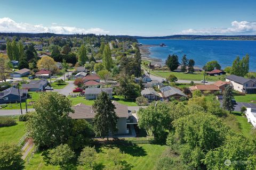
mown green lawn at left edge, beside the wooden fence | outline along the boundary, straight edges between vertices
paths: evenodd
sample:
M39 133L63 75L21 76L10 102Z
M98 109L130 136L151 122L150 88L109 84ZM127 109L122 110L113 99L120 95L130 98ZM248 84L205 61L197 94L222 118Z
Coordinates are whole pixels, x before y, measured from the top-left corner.
M15 117L15 120L17 120L17 125L0 128L0 142L18 144L26 133L25 122L18 121L18 117Z

